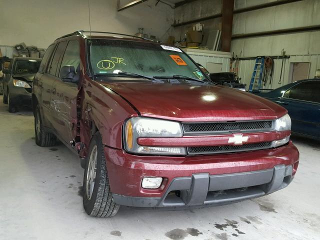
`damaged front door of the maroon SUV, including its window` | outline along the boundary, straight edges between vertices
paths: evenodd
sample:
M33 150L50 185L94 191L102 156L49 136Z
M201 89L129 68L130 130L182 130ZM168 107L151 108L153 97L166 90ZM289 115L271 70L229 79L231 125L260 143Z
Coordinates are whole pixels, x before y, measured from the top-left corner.
M60 138L69 144L73 141L76 130L76 96L79 90L77 83L62 81L60 69L66 65L73 66L76 74L80 73L80 50L77 40L69 40L67 42L56 72L58 79L54 82L55 93L52 94L51 99L54 105L54 128Z

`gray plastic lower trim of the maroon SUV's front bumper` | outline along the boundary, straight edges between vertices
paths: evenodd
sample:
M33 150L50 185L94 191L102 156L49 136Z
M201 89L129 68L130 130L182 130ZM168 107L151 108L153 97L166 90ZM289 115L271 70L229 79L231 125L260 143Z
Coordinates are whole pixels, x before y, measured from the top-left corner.
M135 197L114 193L112 196L120 205L137 207L220 205L269 194L287 186L292 179L291 165L276 165L259 171L220 175L198 173L177 177L171 181L163 197Z

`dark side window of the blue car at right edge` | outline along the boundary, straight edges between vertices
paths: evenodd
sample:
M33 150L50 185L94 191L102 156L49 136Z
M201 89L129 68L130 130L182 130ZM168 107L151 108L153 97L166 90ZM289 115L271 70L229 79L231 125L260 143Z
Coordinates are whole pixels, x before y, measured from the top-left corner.
M283 97L320 103L320 81L301 82L287 90Z

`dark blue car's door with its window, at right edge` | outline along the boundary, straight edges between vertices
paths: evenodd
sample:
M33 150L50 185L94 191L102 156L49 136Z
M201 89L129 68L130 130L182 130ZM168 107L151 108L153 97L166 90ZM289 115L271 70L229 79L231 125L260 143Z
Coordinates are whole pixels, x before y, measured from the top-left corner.
M302 81L284 92L281 104L292 120L292 132L320 137L320 80Z

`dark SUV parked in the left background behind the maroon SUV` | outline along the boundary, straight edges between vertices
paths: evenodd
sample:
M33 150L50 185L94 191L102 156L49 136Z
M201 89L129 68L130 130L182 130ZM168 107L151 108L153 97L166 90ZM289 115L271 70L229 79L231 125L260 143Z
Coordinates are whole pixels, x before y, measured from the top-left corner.
M3 69L3 103L9 112L21 106L31 107L32 81L41 58L14 57L8 69Z

